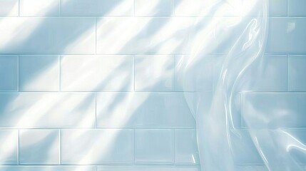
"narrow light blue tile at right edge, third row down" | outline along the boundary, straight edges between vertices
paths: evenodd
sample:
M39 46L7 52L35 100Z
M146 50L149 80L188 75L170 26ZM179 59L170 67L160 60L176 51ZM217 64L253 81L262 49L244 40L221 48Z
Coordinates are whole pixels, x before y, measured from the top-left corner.
M306 56L289 56L289 90L306 91Z

